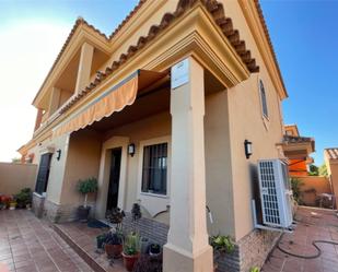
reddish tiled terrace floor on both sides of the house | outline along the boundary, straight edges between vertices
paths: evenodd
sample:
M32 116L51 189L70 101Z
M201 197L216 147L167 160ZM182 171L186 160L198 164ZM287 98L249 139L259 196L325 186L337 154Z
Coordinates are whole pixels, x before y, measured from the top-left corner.
M284 234L280 246L293 253L313 255L313 240L338 241L338 217L333 211L300 208L298 227L293 234ZM103 230L89 228L85 224L57 225L94 260L100 270L125 272L121 260L110 263L104 253L95 249L95 237ZM282 253L276 248L264 272L338 272L338 246L319 244L319 258L304 260ZM24 210L0 211L0 271L1 263L16 272L77 272L93 271L51 226ZM1 271L2 272L2 271Z

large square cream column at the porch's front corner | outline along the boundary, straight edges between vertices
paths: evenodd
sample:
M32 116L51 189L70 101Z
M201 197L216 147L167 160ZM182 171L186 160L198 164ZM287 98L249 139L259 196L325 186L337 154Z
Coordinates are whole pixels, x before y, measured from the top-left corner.
M171 225L163 268L164 272L211 272L212 249L206 221L203 68L190 57L186 71L185 84L171 91Z

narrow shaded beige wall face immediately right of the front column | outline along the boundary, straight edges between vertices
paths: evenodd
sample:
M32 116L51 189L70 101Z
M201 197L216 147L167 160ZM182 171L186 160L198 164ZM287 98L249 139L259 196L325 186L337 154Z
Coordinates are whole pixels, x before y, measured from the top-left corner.
M208 95L205 116L206 182L207 205L213 224L209 217L207 222L212 235L235 233L229 129L228 91Z

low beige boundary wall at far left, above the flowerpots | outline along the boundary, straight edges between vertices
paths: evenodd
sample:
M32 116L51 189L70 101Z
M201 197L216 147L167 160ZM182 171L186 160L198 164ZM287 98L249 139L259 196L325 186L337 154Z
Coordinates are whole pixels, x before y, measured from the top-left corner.
M34 190L35 164L0 163L0 194L14 194L23 188Z

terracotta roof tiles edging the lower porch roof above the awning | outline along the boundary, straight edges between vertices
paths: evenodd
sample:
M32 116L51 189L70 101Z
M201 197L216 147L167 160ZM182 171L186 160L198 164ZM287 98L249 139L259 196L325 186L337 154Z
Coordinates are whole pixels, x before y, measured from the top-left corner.
M143 1L145 2L145 1ZM202 3L206 9L210 12L214 22L222 29L223 35L229 39L233 48L236 50L242 61L246 64L249 72L258 72L259 67L256 64L256 60L252 58L252 54L246 49L245 42L241 40L240 33L237 29L233 28L232 20L226 17L224 14L224 9L221 3L217 0L180 0L176 7L175 12L165 13L162 16L161 23L159 25L152 25L148 32L148 35L139 37L136 45L129 46L126 54L121 54L117 61L114 61L110 67L107 67L104 72L98 72L101 79L96 76L95 81L85 87L83 92L85 94L90 93L96 85L104 81L108 74L112 74L117 70L123 63L125 63L129 58L131 58L138 50L143 48L148 43L154 39L159 33L165 29L172 22L180 17L187 10L191 9L198 2ZM114 35L113 35L114 36ZM112 36L110 36L112 38ZM80 93L73 99L71 99L67 105L65 105L60 113L66 113L72 105L79 100Z

